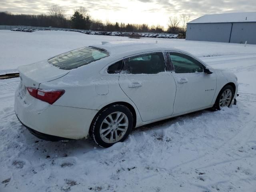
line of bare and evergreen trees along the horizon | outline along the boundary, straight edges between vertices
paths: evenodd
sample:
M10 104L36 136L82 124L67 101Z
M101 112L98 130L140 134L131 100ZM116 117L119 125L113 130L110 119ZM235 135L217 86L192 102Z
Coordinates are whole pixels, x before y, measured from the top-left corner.
M24 25L38 27L58 27L73 28L83 30L96 31L119 31L119 32L168 32L168 33L185 33L186 23L189 16L183 14L178 17L170 17L168 21L168 29L164 31L164 27L149 26L148 24L125 24L123 22L102 22L102 20L93 19L86 8L79 7L74 10L74 14L67 18L65 10L57 4L49 7L48 14L12 14L10 12L0 12L0 25Z

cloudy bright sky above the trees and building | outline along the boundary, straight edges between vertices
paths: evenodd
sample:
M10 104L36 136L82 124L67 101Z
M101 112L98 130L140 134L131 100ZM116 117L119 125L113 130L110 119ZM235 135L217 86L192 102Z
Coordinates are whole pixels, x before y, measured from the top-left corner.
M14 14L48 13L58 4L70 17L79 6L103 22L146 23L167 27L170 16L181 14L190 20L204 14L256 11L256 0L0 0L0 11Z

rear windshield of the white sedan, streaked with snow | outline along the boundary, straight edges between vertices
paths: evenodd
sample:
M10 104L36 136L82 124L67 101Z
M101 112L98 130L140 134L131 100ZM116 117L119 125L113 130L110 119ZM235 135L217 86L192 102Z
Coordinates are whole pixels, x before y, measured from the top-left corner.
M71 70L107 56L109 56L109 53L104 49L84 47L58 55L49 59L48 62L60 69Z

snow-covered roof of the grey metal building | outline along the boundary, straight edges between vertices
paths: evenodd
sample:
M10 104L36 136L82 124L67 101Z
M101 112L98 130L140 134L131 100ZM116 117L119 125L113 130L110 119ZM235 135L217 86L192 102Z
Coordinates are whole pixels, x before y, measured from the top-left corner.
M256 12L207 14L188 23L256 22Z

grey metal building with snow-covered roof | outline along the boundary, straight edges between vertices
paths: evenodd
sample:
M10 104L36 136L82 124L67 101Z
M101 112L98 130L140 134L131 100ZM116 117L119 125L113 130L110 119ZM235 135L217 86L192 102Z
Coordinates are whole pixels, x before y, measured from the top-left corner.
M256 12L201 16L188 22L186 40L256 44Z

